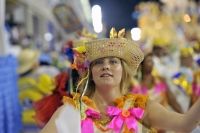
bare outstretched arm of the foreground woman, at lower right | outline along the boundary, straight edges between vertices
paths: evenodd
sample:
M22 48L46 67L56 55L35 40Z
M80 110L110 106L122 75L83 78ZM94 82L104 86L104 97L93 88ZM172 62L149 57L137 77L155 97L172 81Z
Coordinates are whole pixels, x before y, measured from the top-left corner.
M200 121L200 98L185 114L165 109L159 103L149 101L144 116L144 124L151 127L178 132L190 132Z

